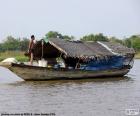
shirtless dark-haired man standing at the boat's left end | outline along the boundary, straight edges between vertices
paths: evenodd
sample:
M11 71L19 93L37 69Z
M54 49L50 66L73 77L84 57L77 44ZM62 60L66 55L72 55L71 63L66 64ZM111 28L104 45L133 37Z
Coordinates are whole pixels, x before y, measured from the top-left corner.
M28 53L30 54L30 64L33 65L33 58L34 58L34 45L35 45L35 36L31 36L31 40L29 42L29 49Z

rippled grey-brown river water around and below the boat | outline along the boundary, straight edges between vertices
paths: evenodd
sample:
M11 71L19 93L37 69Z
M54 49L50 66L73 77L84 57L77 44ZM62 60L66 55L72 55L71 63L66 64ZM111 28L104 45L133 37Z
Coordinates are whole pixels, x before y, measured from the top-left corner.
M140 60L125 77L105 79L26 82L0 67L1 114L125 116L127 109L140 110Z

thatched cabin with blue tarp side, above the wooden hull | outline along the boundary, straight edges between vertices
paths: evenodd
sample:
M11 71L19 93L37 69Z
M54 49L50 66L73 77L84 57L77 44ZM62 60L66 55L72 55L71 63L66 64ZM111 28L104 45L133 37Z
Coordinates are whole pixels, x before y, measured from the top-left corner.
M84 70L105 70L131 65L135 51L119 43L42 39L35 44L34 60L45 59L48 66ZM61 65L60 65L61 66Z

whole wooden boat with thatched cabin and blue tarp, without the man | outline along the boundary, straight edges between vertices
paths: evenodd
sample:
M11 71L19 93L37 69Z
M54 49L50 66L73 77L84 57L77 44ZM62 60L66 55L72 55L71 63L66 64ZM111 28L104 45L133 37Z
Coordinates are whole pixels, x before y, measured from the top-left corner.
M25 80L123 76L133 66L135 51L119 43L42 39L34 46L38 66L12 63ZM63 65L62 65L63 64Z

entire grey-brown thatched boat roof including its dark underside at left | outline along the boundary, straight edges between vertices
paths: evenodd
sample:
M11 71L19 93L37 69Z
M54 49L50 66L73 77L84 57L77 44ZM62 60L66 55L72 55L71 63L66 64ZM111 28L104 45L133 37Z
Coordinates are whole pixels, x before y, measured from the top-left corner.
M35 46L38 51L35 56L41 54L41 41ZM134 54L134 50L127 48L118 43L111 42L81 42L81 41L65 41L63 39L52 38L48 43L44 44L44 56L54 57L64 54L67 57L74 58L94 58L102 56Z

